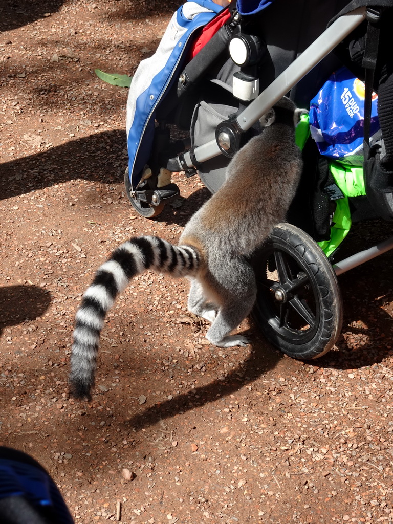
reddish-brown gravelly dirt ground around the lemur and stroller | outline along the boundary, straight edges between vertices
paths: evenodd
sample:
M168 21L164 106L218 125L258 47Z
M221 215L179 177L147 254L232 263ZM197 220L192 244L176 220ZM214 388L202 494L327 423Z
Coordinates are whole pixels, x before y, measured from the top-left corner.
M47 468L75 522L393 522L388 253L339 278L342 335L298 362L252 321L221 350L187 315L187 283L146 273L103 331L92 402L69 397L72 325L92 272L129 236L176 241L209 197L137 216L123 173L127 90L176 3L0 4L0 443ZM390 234L356 228L348 249Z

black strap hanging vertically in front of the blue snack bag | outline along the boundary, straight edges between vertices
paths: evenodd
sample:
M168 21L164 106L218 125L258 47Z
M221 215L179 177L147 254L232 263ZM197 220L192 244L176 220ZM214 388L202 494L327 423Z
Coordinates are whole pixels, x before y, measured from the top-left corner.
M368 20L366 33L366 46L364 50L362 66L365 68L365 90L364 90L364 158L368 158L370 147L370 124L371 109L374 86L374 73L377 65L379 46L379 19L380 8L369 7L366 18Z

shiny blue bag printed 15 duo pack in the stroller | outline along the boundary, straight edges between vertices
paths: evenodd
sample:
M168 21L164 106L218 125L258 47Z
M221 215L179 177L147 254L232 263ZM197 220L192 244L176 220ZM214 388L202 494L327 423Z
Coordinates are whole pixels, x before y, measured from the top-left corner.
M381 138L373 93L370 145ZM364 83L343 67L335 71L310 102L310 132L321 153L352 166L363 164Z

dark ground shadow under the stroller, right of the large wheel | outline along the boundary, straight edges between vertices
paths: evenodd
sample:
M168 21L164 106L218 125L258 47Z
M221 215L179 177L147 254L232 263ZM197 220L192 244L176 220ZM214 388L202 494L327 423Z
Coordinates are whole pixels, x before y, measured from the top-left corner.
M355 224L337 260L367 249L392 234L391 223L374 220ZM380 363L393 347L393 250L339 277L343 327L337 350L313 365L355 369Z

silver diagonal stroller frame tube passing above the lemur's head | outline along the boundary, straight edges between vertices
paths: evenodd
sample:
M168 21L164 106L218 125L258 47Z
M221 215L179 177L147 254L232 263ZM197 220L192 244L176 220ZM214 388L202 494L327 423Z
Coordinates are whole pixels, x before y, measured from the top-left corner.
M325 58L346 36L348 36L366 18L367 7L357 9L337 18L331 26L307 48L289 67L283 71L256 99L240 113L236 122L243 131L247 131L258 119L263 116L283 95L299 82L311 69ZM204 162L218 155L222 151L216 140L198 146L193 151L193 158L197 162ZM179 157L178 157L179 161ZM179 166L184 169L184 163L192 168L190 152L182 155Z

